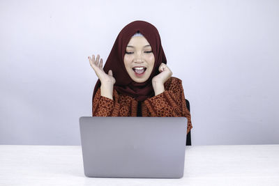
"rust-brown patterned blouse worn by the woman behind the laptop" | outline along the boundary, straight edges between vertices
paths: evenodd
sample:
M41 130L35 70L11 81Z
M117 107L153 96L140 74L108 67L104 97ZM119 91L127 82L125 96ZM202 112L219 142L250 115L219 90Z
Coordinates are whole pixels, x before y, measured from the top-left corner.
M186 117L187 133L193 128L190 112L186 107L182 81L170 77L164 84L165 91L142 102L144 117ZM113 91L113 100L100 95L100 88L93 98L92 116L137 116L137 100Z

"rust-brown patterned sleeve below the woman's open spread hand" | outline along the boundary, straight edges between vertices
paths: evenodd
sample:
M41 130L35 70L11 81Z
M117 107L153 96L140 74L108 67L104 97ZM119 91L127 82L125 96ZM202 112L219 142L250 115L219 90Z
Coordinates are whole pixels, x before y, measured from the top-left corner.
M118 98L116 91L114 91L114 97ZM129 109L126 105L100 95L100 88L98 88L93 98L92 116L128 116L128 113Z

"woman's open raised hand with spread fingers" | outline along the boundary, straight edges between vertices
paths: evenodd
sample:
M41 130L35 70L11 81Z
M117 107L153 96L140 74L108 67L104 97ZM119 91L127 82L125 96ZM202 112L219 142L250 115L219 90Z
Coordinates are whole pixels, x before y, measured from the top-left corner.
M92 59L90 56L88 56L88 59L91 67L93 68L96 75L100 79L102 86L113 87L113 85L115 84L115 79L112 76L112 70L109 70L108 74L105 73L105 71L103 70L103 59L100 59L100 55L99 54L97 55L96 60L94 55L92 55ZM99 59L100 59L100 63L99 63Z

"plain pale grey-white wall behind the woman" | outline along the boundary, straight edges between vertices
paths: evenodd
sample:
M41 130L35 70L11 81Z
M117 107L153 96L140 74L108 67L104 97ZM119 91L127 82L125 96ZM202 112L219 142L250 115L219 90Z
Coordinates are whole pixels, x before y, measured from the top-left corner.
M0 144L80 145L123 26L158 29L193 145L279 144L279 1L0 1Z

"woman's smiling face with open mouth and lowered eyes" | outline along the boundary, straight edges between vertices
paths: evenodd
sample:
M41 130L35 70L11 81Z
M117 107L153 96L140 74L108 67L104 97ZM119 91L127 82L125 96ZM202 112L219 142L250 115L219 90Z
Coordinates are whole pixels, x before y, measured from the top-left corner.
M134 82L146 82L151 75L155 57L151 45L143 36L134 36L126 47L125 68Z

